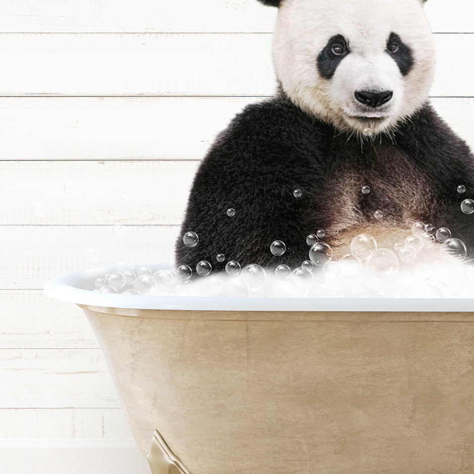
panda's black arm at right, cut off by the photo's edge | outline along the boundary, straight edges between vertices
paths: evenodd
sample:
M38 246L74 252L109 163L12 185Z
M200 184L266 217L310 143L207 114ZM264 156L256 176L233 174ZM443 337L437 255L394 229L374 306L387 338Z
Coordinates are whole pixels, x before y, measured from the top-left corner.
M453 237L463 240L468 257L472 258L474 214L468 215L461 210L463 200L474 200L474 155L468 145L429 104L412 118L411 124L397 141L434 183L446 219L437 223L437 227L448 227ZM465 192L458 192L459 185L465 187Z

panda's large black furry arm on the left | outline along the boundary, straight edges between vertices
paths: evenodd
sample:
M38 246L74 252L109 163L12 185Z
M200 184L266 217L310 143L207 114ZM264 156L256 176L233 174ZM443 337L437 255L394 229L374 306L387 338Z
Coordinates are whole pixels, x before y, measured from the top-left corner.
M299 135L300 127L292 122L300 117L292 113L277 102L252 106L219 135L194 179L176 243L177 264L194 269L207 260L214 270L223 270L230 260L242 267L295 267L308 259L306 236L315 232L309 223L323 219L317 205L310 204L317 202L318 163L305 163L298 154L299 136L291 130ZM300 197L295 197L296 189L301 189ZM235 214L229 216L228 209ZM193 247L182 240L190 231L199 237ZM287 247L281 256L270 251L275 240ZM216 259L220 253L223 262Z

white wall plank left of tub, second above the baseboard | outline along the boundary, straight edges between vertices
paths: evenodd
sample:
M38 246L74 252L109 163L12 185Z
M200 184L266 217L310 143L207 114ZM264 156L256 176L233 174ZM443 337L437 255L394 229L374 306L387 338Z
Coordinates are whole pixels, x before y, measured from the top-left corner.
M118 408L100 349L0 349L0 408Z

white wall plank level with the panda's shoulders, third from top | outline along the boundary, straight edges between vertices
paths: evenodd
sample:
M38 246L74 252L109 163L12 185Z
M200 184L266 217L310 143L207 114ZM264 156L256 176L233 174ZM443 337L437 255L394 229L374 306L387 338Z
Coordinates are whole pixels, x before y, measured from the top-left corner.
M235 114L263 99L0 97L0 159L200 160ZM474 148L472 98L436 97L432 102ZM51 164L46 166L52 171ZM54 187L61 189L66 178L56 177Z

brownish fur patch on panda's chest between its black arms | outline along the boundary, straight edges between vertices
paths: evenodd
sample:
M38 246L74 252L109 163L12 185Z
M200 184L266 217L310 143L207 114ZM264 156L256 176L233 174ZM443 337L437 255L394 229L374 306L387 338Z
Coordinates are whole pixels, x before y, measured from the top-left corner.
M341 161L322 196L333 232L367 223L406 227L439 212L429 179L391 145Z

